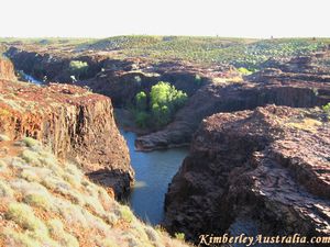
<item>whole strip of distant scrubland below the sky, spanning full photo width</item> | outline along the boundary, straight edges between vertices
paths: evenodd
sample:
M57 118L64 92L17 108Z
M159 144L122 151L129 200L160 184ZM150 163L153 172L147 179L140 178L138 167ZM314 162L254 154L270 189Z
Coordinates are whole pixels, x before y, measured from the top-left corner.
M210 36L128 35L97 38L0 38L0 43L62 56L107 52L113 58L183 60L202 65L231 64L254 70L268 58L307 55L327 48L330 38L234 38Z

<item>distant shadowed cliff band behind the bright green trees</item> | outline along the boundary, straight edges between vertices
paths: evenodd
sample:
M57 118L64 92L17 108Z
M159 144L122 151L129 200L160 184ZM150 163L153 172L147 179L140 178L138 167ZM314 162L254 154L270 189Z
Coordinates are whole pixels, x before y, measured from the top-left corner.
M110 97L116 106L132 103L138 92L150 91L151 87L160 80L169 81L189 96L194 94L207 81L198 67L180 63L153 65L141 58L111 59L106 53L89 55L52 54L50 50L29 47L11 47L6 54L12 59L16 69L40 80L46 76L47 81L62 83L72 81L69 71L72 60L86 61L88 70L75 83L81 87L87 86L95 92ZM198 83L195 81L196 75L201 76Z

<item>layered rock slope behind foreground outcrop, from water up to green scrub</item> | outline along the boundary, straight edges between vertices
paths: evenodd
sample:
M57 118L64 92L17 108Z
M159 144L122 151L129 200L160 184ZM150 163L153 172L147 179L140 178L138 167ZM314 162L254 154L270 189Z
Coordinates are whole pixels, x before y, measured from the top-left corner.
M201 120L218 112L254 109L268 103L295 108L326 104L330 99L330 69L321 61L327 56L307 58L270 61L264 65L265 69L240 83L217 82L212 75L213 83L200 88L177 112L172 124L138 138L136 147L148 150L187 144Z

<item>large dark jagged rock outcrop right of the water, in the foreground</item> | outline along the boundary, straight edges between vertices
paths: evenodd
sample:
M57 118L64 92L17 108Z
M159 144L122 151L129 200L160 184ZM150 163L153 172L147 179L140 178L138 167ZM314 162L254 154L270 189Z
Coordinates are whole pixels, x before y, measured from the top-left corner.
M330 236L330 123L321 110L219 113L194 136L165 226L199 234Z

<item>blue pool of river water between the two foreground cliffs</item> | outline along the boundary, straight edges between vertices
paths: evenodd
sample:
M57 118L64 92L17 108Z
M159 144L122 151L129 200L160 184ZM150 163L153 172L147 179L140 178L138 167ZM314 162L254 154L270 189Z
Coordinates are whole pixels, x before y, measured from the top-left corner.
M135 187L130 195L130 204L138 216L151 224L163 220L164 197L173 176L178 170L188 148L173 148L148 153L135 151L136 135L122 131L128 142L132 166L135 170Z

